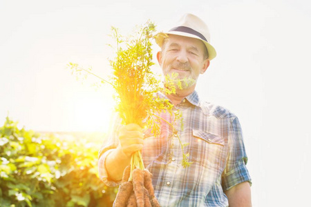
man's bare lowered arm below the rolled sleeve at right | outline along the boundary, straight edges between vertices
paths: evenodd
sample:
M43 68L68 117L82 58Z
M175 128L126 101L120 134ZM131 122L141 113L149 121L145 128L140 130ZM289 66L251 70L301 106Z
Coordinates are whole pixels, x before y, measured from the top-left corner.
M245 181L225 191L229 207L252 207L249 182Z

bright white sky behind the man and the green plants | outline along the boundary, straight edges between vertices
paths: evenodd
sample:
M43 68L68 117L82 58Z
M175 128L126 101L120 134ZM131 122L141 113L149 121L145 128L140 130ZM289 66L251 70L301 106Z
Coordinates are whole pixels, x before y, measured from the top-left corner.
M66 65L92 66L105 77L111 71L107 58L114 55L106 46L111 26L129 34L151 19L166 30L191 12L208 23L218 52L197 90L241 121L253 206L306 206L310 10L309 1L290 0L1 0L0 121L9 112L32 130L106 130L111 89L82 85Z

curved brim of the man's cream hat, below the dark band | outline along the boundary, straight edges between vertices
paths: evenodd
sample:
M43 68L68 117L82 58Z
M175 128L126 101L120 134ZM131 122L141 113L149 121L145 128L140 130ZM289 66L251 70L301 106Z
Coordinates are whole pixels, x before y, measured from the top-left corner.
M178 32L178 31L171 31L171 32L159 32L158 34L156 34L154 36L154 39L156 40L156 43L158 44L158 46L162 47L164 38L168 37L168 34L175 34L175 35L179 35L179 36L184 36L184 37L191 37L191 38L195 38L195 39L200 39L200 37L194 35L194 34L189 34L187 32ZM216 50L213 46L211 46L210 43L208 43L207 41L200 39L200 41L202 41L206 48L207 51L209 52L209 60L214 59L216 57Z

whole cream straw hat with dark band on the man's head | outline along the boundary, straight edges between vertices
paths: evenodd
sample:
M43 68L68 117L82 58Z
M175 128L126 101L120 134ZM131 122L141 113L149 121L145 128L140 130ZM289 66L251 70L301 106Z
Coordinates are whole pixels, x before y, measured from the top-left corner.
M156 34L155 39L158 46L162 47L162 43L167 34L176 34L184 37L192 37L200 39L205 43L207 51L209 52L209 60L216 57L216 50L210 44L209 28L202 19L196 17L194 14L185 14L177 26L171 28L168 32L159 32Z

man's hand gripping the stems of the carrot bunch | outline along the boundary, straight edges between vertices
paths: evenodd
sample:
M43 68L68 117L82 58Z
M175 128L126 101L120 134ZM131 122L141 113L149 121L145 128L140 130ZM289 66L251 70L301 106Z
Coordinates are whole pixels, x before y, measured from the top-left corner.
M137 124L128 124L123 126L119 132L120 144L118 148L122 150L124 155L131 157L133 152L142 149L144 144L144 135L142 128Z

